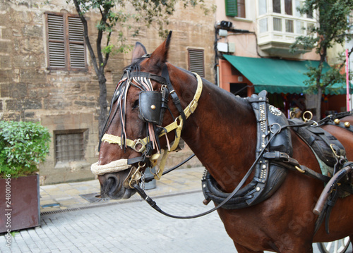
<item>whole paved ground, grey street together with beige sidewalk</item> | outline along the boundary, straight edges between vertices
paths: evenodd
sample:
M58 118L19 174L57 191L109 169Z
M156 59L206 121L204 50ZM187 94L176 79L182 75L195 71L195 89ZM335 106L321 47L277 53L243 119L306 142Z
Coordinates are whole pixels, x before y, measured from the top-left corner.
M206 211L202 172L188 168L165 175L148 195L170 214ZM177 220L157 213L137 195L92 203L80 197L97 192L97 180L40 187L41 226L15 233L11 247L1 235L0 252L237 252L217 213ZM316 246L314 252L319 252Z

